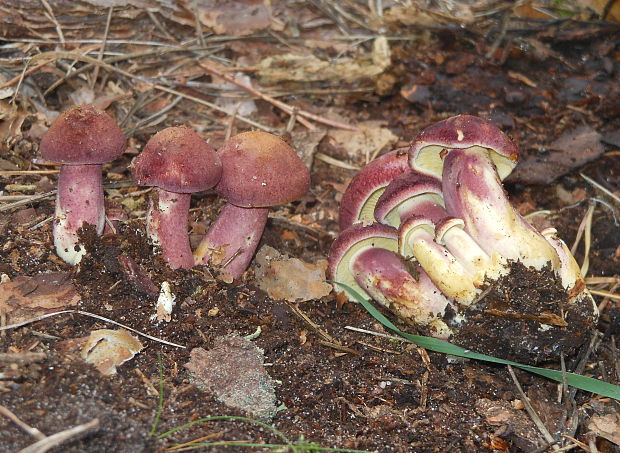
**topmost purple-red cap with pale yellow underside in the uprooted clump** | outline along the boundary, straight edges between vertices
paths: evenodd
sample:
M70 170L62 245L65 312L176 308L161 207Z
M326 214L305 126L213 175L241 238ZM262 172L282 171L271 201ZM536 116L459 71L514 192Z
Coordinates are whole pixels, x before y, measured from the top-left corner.
M477 116L458 115L420 132L409 149L409 164L420 173L441 179L445 153L473 147L489 152L501 180L519 160L515 144L494 124Z

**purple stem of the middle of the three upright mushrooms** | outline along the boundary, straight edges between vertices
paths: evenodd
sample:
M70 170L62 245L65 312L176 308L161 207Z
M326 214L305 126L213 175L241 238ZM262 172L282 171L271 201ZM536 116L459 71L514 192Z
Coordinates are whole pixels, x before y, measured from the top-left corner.
M156 188L149 198L146 231L154 245L161 248L164 260L172 269L189 269L194 265L187 235L187 217L191 194L168 192Z

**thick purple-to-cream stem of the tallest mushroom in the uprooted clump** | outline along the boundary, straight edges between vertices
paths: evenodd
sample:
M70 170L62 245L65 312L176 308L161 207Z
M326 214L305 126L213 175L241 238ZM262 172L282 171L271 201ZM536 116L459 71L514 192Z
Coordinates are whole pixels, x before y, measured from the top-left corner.
M553 247L510 205L488 150L450 150L444 158L443 194L448 214L463 219L465 231L487 254L497 252L535 269L549 262L559 268Z

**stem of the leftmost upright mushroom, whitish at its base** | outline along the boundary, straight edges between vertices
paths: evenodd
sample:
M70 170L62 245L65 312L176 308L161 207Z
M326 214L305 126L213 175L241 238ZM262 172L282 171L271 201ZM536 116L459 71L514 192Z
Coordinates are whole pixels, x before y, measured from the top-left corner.
M101 234L105 223L101 165L63 165L58 175L54 245L56 253L71 265L86 253L79 244L78 230L94 225Z

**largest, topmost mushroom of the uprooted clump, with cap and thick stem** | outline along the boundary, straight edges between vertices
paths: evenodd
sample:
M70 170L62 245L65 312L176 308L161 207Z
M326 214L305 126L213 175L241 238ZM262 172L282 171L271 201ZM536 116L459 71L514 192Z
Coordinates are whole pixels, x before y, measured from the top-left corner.
M493 124L470 115L440 121L414 139L409 163L420 173L442 178L449 215L489 255L541 269L559 268L553 247L514 210L500 179L518 159L515 145Z

